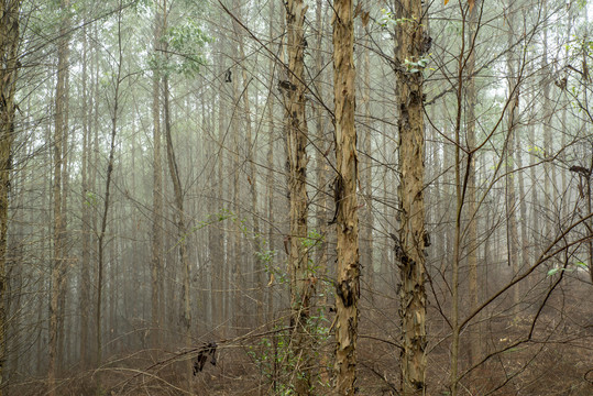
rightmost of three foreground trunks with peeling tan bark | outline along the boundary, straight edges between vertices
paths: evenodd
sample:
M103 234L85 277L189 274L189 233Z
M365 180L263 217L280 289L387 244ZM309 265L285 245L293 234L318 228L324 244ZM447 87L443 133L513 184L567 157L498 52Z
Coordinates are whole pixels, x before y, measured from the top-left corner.
M426 268L424 200L424 103L421 72L414 73L404 66L406 59L420 61L427 51L420 0L404 0L397 9L395 64L399 97L397 129L399 134L400 219L397 262L402 286L399 289L402 320L402 391L405 396L421 395L426 387Z

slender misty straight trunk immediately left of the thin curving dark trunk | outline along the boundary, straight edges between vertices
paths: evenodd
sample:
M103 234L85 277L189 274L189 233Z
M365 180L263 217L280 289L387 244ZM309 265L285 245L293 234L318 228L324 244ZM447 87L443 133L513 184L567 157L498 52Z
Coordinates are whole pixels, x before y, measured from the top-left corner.
M160 56L161 41L161 2L156 4L154 21L154 52ZM160 84L158 69L153 70L152 76L152 118L153 118L153 218L151 241L151 317L152 317L152 348L158 348L161 343L161 299L164 298L161 279L163 278L163 160L161 155L161 112L160 112Z

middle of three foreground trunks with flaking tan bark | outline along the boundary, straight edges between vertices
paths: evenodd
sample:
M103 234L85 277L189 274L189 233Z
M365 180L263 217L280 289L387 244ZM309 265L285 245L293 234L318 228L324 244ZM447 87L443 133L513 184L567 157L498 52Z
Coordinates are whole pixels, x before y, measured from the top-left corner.
M336 250L338 256L334 391L339 395L354 395L356 392L360 256L352 0L334 0L333 9L333 101L336 107L336 166L338 170L334 180Z

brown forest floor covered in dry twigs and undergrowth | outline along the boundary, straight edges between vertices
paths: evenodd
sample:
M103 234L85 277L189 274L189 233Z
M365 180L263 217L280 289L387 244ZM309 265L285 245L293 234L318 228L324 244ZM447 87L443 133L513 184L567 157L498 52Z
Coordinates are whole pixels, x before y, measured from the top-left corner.
M491 312L480 329L484 345L482 355L488 358L463 376L460 395L593 395L592 307L580 304L579 297L578 293L562 294L551 298L545 309L528 307L513 317ZM375 301L376 306L381 304ZM388 336L397 334L397 324L396 319L389 321L384 316L385 311L378 308L361 318L364 326L358 342L356 382L360 395L398 395L399 350ZM432 318L436 317L432 312ZM534 318L537 318L535 322ZM429 330L427 395L446 396L450 394L450 332L447 326L435 320ZM271 334L273 332L266 337L219 342L216 365L211 364L212 355L206 353L201 371L190 377L193 394L289 395L286 384L294 373L285 353L287 340ZM462 334L462 341L463 337L466 334ZM206 343L200 348L194 351L193 358L200 350L207 351ZM327 362L331 362L332 348L331 339L315 348L314 395L331 394L325 370ZM154 352L147 351L121 353L111 356L100 371L74 369L64 374L65 380L59 383L56 394L97 395L97 381L100 380L103 388L100 395L183 395L183 389L187 389L187 376L179 373L186 370L187 361L177 358L175 353L164 351L157 359ZM465 348L460 354L460 373L468 369ZM43 378L20 380L12 382L8 395L47 394Z

